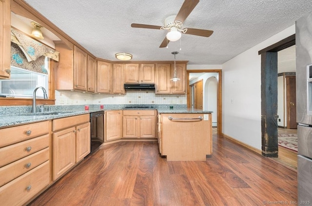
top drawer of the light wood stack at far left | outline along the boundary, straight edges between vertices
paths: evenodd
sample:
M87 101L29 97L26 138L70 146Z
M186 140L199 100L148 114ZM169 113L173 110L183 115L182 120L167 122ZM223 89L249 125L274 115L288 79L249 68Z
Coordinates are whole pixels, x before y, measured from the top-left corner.
M49 121L0 129L0 147L49 133Z

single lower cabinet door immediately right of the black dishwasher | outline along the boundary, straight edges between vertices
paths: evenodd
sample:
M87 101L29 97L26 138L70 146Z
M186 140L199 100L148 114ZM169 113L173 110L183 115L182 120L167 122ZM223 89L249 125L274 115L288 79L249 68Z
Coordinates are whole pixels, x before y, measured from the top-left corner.
M105 140L120 139L122 115L120 110L105 112Z

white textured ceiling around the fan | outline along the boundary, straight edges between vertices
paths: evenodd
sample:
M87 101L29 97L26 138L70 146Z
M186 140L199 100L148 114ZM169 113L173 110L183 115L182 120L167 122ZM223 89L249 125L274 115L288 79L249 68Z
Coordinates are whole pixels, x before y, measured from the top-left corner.
M99 58L116 60L129 52L133 61L176 60L222 64L312 11L311 0L200 0L184 28L213 30L210 37L182 34L159 48L164 30L132 28L131 23L163 26L184 0L25 0L63 32Z

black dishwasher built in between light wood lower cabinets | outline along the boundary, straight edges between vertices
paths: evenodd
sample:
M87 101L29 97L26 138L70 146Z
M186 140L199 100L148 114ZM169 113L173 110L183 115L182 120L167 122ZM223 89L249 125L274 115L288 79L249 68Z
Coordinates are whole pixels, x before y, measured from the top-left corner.
M91 153L104 142L104 111L90 113Z

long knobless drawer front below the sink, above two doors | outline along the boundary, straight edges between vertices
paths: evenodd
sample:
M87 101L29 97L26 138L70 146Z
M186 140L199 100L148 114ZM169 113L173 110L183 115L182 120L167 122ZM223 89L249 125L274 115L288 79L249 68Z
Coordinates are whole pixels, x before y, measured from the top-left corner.
M52 131L58 131L60 129L76 126L89 121L89 114L60 118L52 121Z

